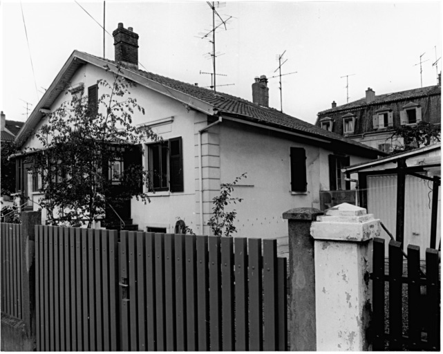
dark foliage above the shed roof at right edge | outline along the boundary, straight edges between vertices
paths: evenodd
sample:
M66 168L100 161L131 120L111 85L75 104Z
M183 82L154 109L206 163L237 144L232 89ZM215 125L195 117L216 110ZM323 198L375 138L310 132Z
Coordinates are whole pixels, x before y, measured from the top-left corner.
M391 140L402 141L402 145L397 146L393 153L408 151L438 142L440 141L440 132L440 124L424 121L414 125L395 127Z

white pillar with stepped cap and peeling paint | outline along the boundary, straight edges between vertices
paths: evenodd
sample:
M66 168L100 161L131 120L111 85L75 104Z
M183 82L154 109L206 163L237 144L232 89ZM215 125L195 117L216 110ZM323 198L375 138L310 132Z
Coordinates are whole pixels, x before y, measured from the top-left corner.
M312 223L315 252L317 351L368 351L370 239L379 220L343 203Z

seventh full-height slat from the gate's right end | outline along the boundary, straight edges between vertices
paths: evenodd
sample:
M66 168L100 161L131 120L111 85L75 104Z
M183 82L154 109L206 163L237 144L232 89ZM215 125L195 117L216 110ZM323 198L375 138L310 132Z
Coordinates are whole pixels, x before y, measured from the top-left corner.
M196 236L185 236L185 267L186 267L186 335L187 351L197 351L197 268L196 268Z

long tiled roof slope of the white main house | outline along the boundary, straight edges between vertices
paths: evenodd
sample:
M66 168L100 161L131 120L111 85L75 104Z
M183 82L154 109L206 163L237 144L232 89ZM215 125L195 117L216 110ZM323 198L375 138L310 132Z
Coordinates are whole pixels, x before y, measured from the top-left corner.
M109 59L103 59L100 57L97 58L102 59L111 64L116 64L114 61ZM253 118L258 120L262 124L274 125L286 130L301 131L307 133L307 135L328 138L329 140L337 140L348 143L350 145L364 148L366 150L377 151L377 153L379 154L384 154L377 149L368 147L367 145L363 145L359 142L355 142L353 140L344 138L339 134L332 133L330 131L326 131L325 129L316 127L314 124L310 124L298 118L294 118L291 115L287 115L285 113L282 113L281 111L277 111L276 109L259 106L258 104L254 104L247 100L243 100L243 98L240 97L235 97L233 95L228 95L227 93L221 93L221 92L218 92L214 95L213 91L207 88L195 86L194 84L187 84L185 82L173 80L170 79L169 77L164 77L158 74L149 73L147 71L143 71L136 68L130 68L129 70L135 71L135 73L138 73L138 75L147 77L147 79L153 80L154 82L158 82L163 86L173 88L177 91L195 97L198 100L216 106L218 111L221 111L223 113L229 113L232 115L238 115L238 118L240 119L244 117Z

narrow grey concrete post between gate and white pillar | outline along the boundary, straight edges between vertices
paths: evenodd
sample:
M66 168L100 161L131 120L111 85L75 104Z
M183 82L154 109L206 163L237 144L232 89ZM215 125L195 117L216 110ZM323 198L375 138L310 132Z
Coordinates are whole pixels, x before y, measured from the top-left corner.
M315 270L312 221L319 209L301 207L283 213L289 229L290 349L315 351Z

